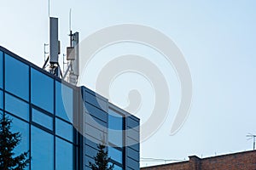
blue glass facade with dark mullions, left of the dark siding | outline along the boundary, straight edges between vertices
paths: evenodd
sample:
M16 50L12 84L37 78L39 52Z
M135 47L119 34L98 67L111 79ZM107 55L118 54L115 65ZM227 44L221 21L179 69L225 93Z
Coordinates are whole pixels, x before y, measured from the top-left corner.
M73 88L63 85L60 92L61 87L60 81L36 66L0 51L0 112L12 120L11 130L21 133L15 154L31 151L26 169L77 168L78 145L70 121Z

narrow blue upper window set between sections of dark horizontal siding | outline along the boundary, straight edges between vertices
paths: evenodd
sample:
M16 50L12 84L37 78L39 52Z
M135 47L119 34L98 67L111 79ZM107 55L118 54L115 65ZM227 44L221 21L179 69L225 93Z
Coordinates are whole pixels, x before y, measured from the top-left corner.
M118 147L123 146L123 116L108 110L108 141Z

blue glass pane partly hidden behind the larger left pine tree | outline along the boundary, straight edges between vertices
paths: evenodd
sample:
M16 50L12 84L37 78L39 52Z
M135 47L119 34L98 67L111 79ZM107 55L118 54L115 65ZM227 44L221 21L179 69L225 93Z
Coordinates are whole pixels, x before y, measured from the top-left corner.
M12 120L11 132L20 133L21 140L20 144L15 147L15 155L19 156L21 153L29 150L29 124L27 122L21 121L15 116L7 116Z

